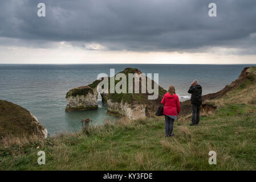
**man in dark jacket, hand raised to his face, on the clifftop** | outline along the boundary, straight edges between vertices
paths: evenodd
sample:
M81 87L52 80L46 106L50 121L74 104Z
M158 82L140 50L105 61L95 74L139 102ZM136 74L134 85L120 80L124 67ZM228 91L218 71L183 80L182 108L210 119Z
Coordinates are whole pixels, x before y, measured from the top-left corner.
M190 98L192 105L192 124L190 126L194 126L200 121L200 109L202 105L202 86L198 85L197 80L191 83L188 93L192 94Z

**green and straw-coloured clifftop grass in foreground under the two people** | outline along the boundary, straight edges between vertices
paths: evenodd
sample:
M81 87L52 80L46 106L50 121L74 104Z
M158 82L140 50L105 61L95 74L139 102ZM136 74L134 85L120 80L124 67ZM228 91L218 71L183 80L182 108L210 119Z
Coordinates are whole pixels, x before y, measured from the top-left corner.
M234 114L237 111L240 114ZM254 113L255 113L254 109ZM227 114L229 113L229 114ZM1 170L254 170L256 114L244 105L226 105L188 126L174 123L174 137L164 137L164 118L120 119L80 133L1 144ZM79 121L78 121L79 122ZM28 141L29 140L29 141ZM38 151L46 165L37 164ZM208 152L217 152L217 165Z

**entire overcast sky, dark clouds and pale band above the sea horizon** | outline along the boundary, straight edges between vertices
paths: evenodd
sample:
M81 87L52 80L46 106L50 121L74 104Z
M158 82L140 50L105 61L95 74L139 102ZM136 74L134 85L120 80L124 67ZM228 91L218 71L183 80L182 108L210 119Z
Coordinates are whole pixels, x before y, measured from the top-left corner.
M256 1L1 0L0 64L86 63L256 64Z

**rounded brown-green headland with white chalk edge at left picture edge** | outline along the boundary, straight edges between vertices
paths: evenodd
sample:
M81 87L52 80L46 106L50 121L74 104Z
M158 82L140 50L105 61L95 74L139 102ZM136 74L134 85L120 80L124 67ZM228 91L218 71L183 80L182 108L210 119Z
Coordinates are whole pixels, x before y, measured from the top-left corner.
M8 101L0 100L0 138L11 135L38 135L47 137L47 129L25 108Z

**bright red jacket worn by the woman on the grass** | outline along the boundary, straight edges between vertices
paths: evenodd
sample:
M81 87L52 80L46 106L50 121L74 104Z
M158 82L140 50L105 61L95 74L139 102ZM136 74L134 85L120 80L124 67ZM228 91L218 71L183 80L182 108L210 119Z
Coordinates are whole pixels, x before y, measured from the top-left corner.
M180 113L180 100L176 94L164 94L161 104L164 104L164 115L178 115Z

